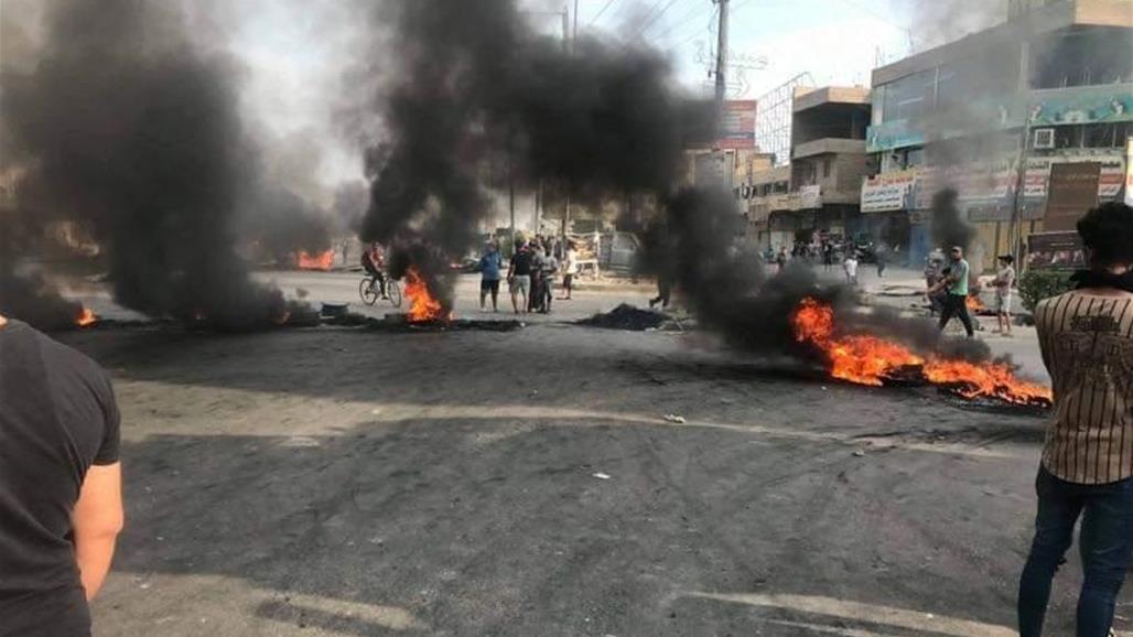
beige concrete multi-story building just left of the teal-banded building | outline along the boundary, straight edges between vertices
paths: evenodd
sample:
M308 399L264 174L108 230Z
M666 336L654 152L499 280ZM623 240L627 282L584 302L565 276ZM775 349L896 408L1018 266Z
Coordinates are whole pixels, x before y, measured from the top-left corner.
M869 231L858 210L871 172L869 109L869 90L860 86L795 88L791 162L752 163L738 193L747 201L749 238L760 248Z

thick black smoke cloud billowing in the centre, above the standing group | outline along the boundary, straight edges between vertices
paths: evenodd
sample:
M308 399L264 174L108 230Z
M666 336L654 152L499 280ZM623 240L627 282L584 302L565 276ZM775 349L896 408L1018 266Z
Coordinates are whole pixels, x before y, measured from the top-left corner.
M543 181L576 201L664 193L685 137L712 118L673 90L658 53L589 37L566 51L537 34L514 0L475 11L444 0L387 3L375 19L393 25L382 51L394 67L376 103L386 135L367 153L360 237L393 243L395 253L408 235L462 254L492 216L489 190L509 181L528 192ZM425 274L443 288L437 272Z

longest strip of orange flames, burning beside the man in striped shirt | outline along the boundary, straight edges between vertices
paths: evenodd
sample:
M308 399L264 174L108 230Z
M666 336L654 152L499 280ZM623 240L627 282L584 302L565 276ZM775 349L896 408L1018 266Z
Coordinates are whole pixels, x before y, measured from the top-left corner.
M1021 381L1004 363L925 359L904 346L869 336L835 336L834 308L803 299L793 320L794 337L823 351L830 375L852 383L879 387L913 370L925 382L943 385L968 399L994 398L1020 405L1049 405L1049 388Z

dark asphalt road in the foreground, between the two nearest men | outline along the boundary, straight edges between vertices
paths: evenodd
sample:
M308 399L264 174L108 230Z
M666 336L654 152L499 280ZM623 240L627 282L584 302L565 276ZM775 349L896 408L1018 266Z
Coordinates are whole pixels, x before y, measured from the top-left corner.
M63 338L125 417L96 635L1012 635L1033 416L699 334Z

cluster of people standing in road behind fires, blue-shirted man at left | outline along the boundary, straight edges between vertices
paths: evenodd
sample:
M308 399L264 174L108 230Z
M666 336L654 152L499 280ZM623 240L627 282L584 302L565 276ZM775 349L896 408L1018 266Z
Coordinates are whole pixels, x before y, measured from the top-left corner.
M480 309L487 311L487 299L492 298L492 311L499 312L500 281L503 273L503 257L500 246L489 241L480 256ZM571 241L550 240L536 236L531 240L519 241L508 261L508 291L516 314L539 312L551 313L555 299L555 280L562 275L563 296L559 300L570 300L578 271L578 252Z

